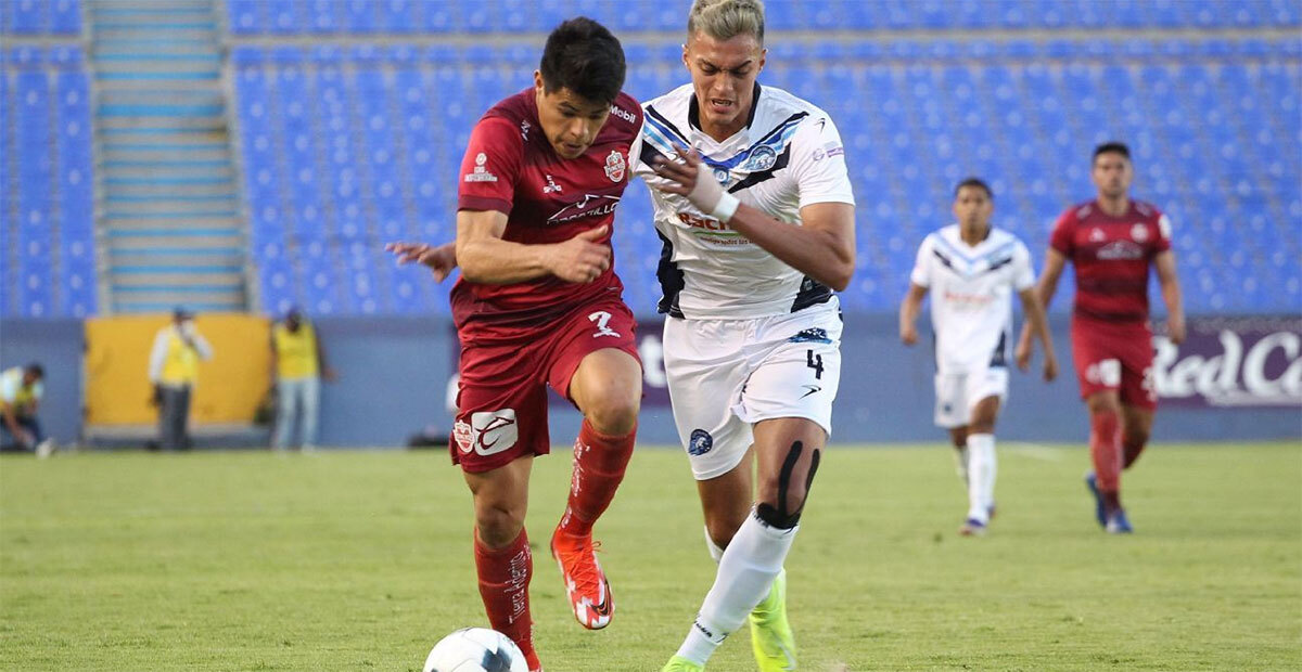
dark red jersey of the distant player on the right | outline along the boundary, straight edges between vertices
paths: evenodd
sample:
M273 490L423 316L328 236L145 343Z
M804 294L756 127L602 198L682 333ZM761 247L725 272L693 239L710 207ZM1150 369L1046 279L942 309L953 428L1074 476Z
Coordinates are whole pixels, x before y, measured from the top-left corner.
M1121 217L1096 201L1059 217L1049 238L1075 266L1075 315L1113 322L1148 320L1148 265L1170 250L1170 221L1138 200Z

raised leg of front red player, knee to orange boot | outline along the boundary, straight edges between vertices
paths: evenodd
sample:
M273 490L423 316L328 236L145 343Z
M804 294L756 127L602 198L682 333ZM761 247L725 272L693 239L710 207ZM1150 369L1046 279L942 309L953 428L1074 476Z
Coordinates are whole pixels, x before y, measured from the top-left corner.
M596 562L592 524L611 506L624 480L638 426L642 367L621 350L598 350L570 378L570 398L583 412L574 442L569 504L552 536L552 556L561 568L574 617L589 629L611 623L615 598Z

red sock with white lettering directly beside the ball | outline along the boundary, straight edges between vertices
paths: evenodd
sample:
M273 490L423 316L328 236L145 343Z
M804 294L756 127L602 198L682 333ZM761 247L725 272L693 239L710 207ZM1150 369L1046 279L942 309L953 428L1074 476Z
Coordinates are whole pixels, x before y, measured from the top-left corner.
M534 651L534 620L529 615L529 580L534 576L534 556L523 529L503 549L490 549L475 532L475 569L479 571L479 597L484 601L492 628L516 642L529 669L538 669Z

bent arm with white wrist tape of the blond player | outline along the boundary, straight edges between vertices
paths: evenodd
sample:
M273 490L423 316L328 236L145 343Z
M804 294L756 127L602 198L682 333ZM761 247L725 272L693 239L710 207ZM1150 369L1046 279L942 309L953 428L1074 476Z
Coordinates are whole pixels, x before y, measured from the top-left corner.
M724 192L708 170L700 170L695 149L678 148L680 161L656 160L655 172L667 183L655 188L685 196L700 212L728 224L786 265L844 291L854 276L854 205L814 203L801 208L802 226L792 226L768 213L741 205Z

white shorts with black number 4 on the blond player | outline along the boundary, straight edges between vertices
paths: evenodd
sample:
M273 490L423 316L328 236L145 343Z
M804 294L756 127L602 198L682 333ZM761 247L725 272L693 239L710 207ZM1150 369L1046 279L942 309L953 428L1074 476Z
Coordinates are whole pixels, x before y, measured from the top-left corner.
M754 320L665 320L673 420L698 481L737 467L760 420L803 417L832 434L841 381L838 305L833 299Z

